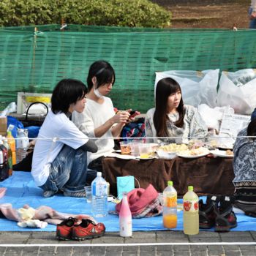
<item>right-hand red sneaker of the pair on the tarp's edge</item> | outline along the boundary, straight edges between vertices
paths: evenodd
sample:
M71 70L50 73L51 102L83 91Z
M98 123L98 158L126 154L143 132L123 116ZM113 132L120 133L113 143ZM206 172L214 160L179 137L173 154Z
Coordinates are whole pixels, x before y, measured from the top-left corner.
M103 236L105 234L105 225L103 223L95 224L90 219L82 219L80 225L75 225L72 230L72 239L85 240Z

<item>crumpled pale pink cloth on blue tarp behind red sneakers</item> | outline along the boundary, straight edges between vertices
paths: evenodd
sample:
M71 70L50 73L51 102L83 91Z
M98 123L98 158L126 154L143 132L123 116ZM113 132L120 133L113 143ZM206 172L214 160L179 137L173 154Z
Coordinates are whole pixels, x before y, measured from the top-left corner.
M29 205L23 206L23 208L29 208ZM7 219L14 220L16 222L22 221L20 217L18 216L18 211L15 208L12 208L11 203L3 203L0 204L0 212L4 215ZM73 217L76 219L91 219L93 222L97 223L97 221L85 214L64 214L59 211L53 210L53 208L50 208L48 206L39 206L36 209L36 212L34 214L33 219L39 219L44 222L48 222L49 224L57 225L61 223L64 219L68 219L69 217Z

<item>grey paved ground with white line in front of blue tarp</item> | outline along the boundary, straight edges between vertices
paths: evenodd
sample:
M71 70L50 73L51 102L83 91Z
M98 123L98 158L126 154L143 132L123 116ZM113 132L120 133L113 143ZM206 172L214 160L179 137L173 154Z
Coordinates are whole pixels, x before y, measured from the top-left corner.
M255 256L256 232L214 233L196 236L182 231L134 232L132 238L106 233L86 241L59 241L54 232L1 232L0 256L175 255Z

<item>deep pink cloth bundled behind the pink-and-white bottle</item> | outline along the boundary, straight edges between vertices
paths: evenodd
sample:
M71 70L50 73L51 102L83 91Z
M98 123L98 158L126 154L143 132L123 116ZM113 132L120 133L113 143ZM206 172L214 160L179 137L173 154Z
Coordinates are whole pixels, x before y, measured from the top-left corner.
M157 200L158 196L159 195L157 190L154 189L151 184L149 184L146 189L132 189L132 191L127 194L132 217L135 217L136 215L141 215L145 208L148 208L148 206L150 206L151 204L155 206L155 200ZM119 213L120 211L121 203L122 202L116 205L117 213ZM150 215L150 212L147 212L146 214Z

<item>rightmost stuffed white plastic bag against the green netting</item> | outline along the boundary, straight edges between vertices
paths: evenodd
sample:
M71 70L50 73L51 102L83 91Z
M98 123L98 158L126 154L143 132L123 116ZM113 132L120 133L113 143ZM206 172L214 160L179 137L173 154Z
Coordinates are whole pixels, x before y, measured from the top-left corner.
M256 73L254 69L222 72L217 105L230 105L235 113L250 115L256 108Z

